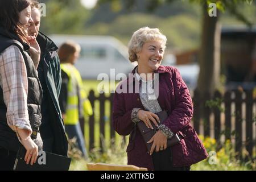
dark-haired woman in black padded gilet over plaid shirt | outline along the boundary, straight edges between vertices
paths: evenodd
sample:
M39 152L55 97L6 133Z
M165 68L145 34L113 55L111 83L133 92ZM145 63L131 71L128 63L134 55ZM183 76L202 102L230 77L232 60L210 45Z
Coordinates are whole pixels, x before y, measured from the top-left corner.
M27 36L32 22L29 0L0 0L0 170L14 167L21 144L24 160L36 162L42 88L36 72L40 48Z

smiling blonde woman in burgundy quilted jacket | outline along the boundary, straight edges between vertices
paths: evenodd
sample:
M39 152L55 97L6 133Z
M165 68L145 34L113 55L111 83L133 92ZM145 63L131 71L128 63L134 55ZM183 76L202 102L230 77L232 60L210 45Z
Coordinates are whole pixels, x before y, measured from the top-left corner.
M138 66L115 92L113 126L120 135L130 134L126 150L128 164L149 170L189 170L208 154L190 123L193 105L187 86L176 68L161 65L166 41L158 28L143 27L134 32L129 43L129 59L138 61ZM135 88L133 93L129 92L130 86ZM154 92L148 92L148 88ZM156 113L162 110L168 112L168 118L160 124ZM136 127L138 122L151 129L152 125L158 127L148 141L152 143L150 152ZM179 144L167 147L167 139L174 134L179 135Z

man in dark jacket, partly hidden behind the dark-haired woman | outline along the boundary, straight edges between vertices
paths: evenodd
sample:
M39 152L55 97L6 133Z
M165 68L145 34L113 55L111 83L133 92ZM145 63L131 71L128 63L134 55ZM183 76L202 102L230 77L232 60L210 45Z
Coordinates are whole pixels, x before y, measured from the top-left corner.
M43 88L42 125L40 126L44 142L43 150L67 156L68 142L58 101L61 88L58 48L51 39L39 32L40 15L39 4L34 1L31 5L33 23L28 28L28 34L36 37L41 49L38 77Z

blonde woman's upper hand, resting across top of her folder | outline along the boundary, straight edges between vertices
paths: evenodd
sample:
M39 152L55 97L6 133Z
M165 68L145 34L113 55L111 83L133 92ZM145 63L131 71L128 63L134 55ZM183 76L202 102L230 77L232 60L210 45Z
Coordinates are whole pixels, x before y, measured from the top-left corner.
M145 123L145 125L151 129L154 129L151 125L151 121L157 127L158 127L158 122L160 122L158 115L156 115L150 111L146 111L146 110L142 110L142 109L138 111L138 118L141 119L141 121L143 121Z

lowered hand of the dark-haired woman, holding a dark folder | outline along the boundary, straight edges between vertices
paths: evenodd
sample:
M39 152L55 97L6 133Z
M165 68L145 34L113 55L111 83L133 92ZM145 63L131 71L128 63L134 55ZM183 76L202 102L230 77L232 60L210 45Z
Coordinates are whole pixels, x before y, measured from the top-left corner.
M38 146L31 139L28 130L17 129L19 137L21 139L22 145L26 148L27 152L24 160L26 163L30 163L33 165L36 163L36 159L38 158Z

